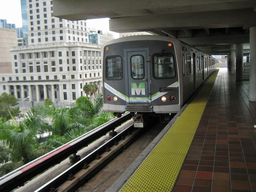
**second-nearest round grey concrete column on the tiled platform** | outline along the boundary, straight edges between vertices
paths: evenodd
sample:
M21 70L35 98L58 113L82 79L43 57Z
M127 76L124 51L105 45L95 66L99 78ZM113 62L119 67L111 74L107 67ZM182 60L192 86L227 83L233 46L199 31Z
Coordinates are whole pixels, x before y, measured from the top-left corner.
M243 44L236 44L236 81L243 80Z

